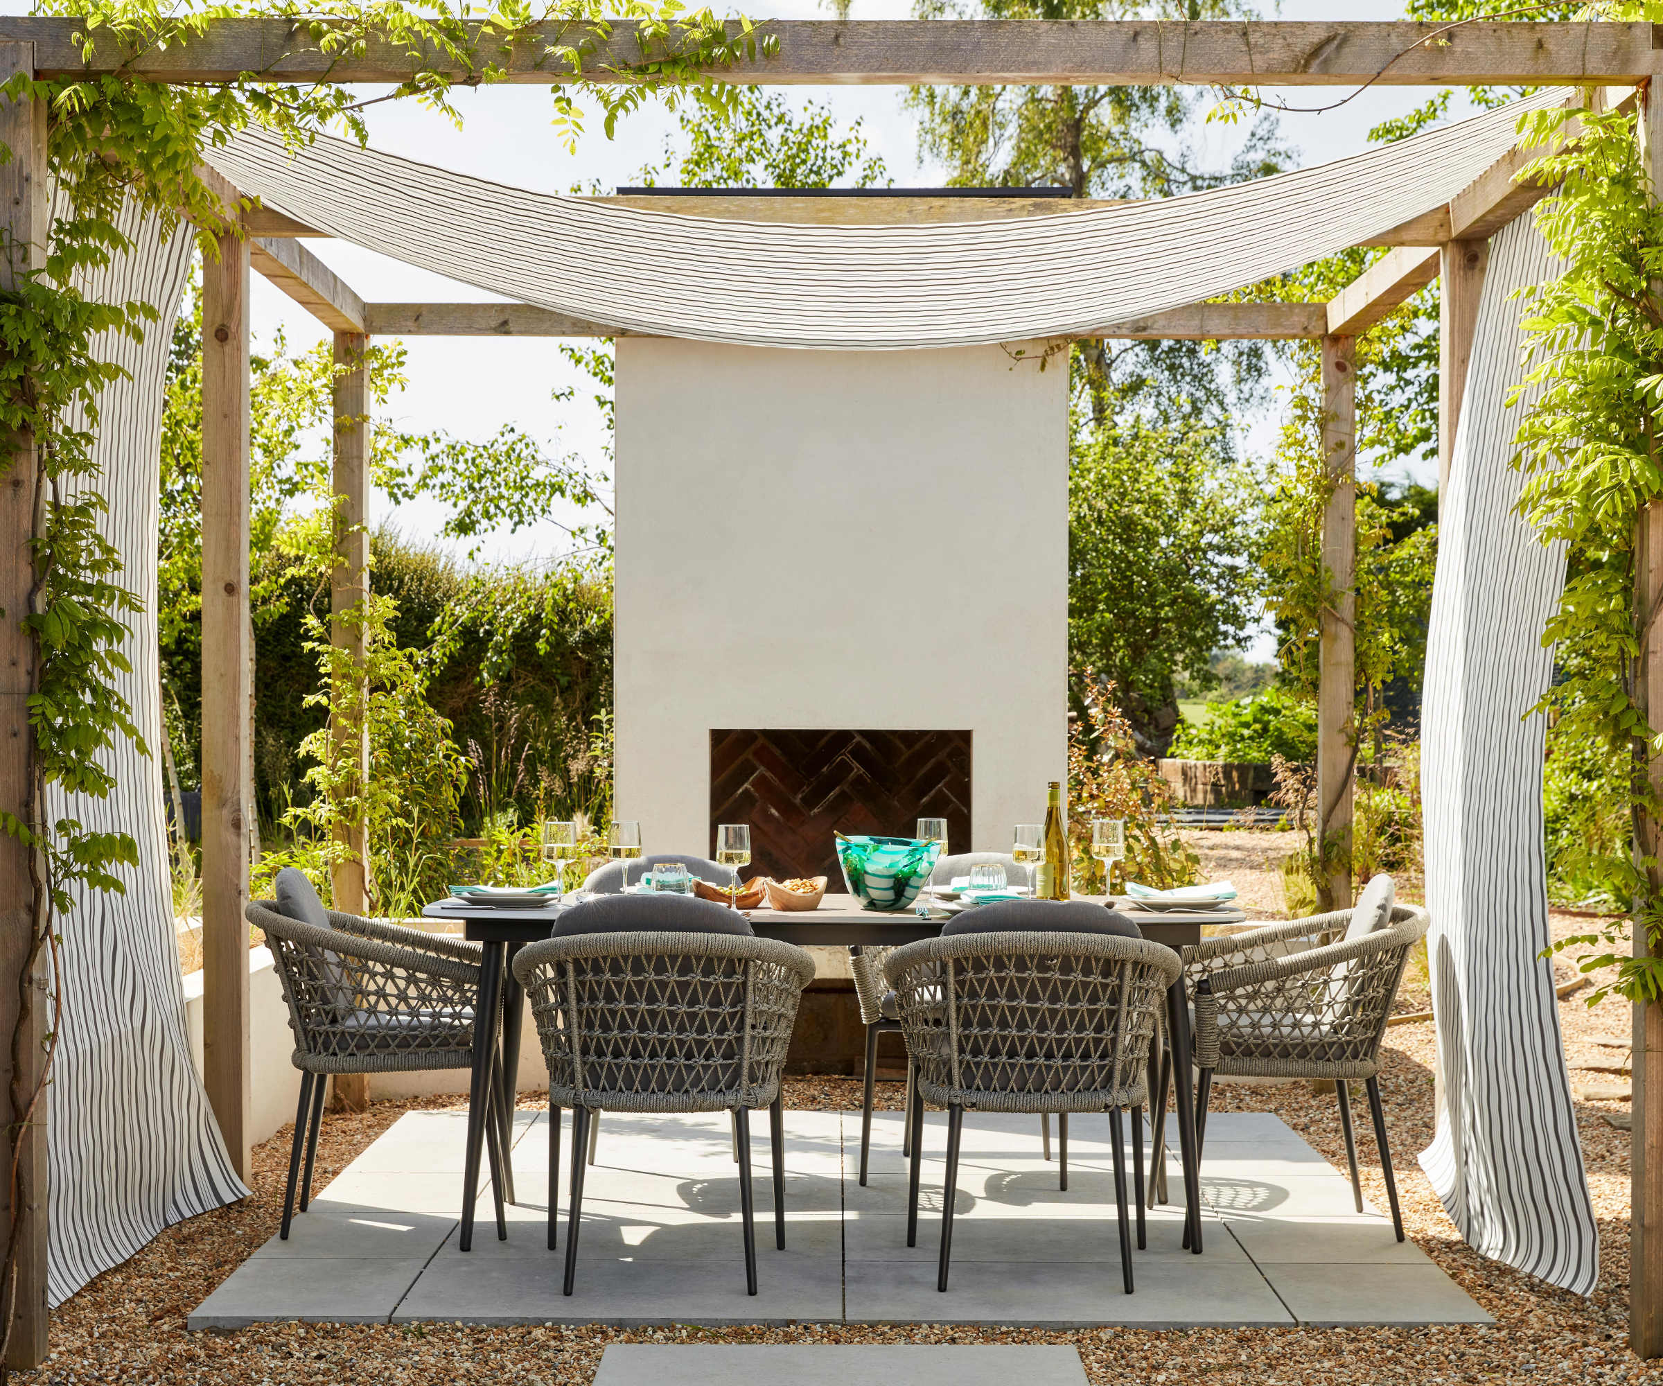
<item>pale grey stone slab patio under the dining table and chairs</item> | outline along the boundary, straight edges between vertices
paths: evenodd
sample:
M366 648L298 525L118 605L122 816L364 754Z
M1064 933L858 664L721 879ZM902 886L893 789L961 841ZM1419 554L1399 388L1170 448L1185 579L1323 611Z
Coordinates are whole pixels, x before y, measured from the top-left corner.
M457 1250L466 1116L412 1111L190 1316L190 1328L324 1323L994 1323L1043 1328L1488 1323L1389 1218L1279 1116L1216 1113L1202 1166L1204 1251L1181 1248L1177 1206L1149 1215L1121 1291L1108 1118L1076 1116L1069 1188L1041 1158L1033 1116L971 1113L955 1206L953 1273L935 1288L945 1113L930 1113L918 1246L906 1246L900 1113L873 1120L856 1181L860 1113L785 1113L787 1246L773 1245L767 1113L752 1118L758 1294L745 1294L738 1175L725 1115L605 1115L584 1190L575 1294L545 1246L549 1123L517 1116L521 1205L499 1241L481 1198ZM562 1186L570 1168L570 1120ZM1182 1196L1176 1158L1169 1188ZM564 1205L564 1195L562 1195Z

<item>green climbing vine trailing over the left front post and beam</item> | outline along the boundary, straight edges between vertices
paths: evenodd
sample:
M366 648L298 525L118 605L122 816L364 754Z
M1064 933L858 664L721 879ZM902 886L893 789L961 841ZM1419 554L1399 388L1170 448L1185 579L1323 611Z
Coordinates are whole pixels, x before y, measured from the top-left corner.
M619 37L609 12L634 27L635 48L625 60L604 57L615 52L612 42ZM118 218L128 200L160 216L165 230L188 221L205 253L215 253L215 238L229 223L198 168L208 150L253 123L278 131L291 146L304 146L331 126L359 141L368 136L363 110L369 101L328 80L289 87L243 73L170 87L136 72L138 60L201 38L216 20L286 18L296 45L333 62L359 58L373 47L402 55L407 78L374 100L416 100L457 123L451 101L457 82L499 82L511 65L530 65L549 73L554 125L570 146L584 128L579 95L599 103L609 135L620 116L655 95L672 103L690 95L725 111L733 88L708 73L777 47L748 20L722 22L710 10L687 12L679 0L497 0L481 13L397 0L304 7L274 0L183 12L161 0L45 0L37 13L78 20L76 38L88 53L115 50L123 63L93 77L37 80L20 72L0 87L7 101L38 101L47 111L48 171L57 188L45 253L15 240L0 245L10 271L0 290L0 426L13 458L12 478L28 469L23 479L35 497L28 609L5 612L33 646L32 800L22 814L0 810L0 829L28 852L33 898L28 955L17 978L20 1015L10 1037L10 1208L45 1198L43 1190L23 1188L22 1150L30 1125L38 1121L57 1048L58 920L73 905L72 887L120 892L115 869L138 857L126 834L93 832L67 815L47 822L47 789L105 797L113 787L105 752L116 739L130 739L148 754L131 709L113 687L113 676L126 669L121 642L140 602L121 584L120 554L98 527L106 504L98 491L93 443L98 394L121 376L118 366L100 359L100 334L138 338L160 314L145 303L88 301L78 273L130 250ZM620 73L630 80L605 82ZM0 161L17 153L0 146ZM43 955L52 978L45 1000L35 982ZM35 1007L43 1003L52 1013L47 1052L43 1062L25 1062L38 1023ZM28 1082L30 1073L38 1080ZM25 1221L12 1220L0 1268L0 1381L17 1321Z

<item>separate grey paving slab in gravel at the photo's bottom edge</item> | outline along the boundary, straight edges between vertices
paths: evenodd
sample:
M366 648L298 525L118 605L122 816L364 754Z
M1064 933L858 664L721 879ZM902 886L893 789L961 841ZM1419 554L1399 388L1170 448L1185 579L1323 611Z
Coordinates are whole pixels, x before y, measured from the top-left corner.
M848 1386L905 1381L908 1386L1086 1386L1074 1348L1016 1344L800 1343L685 1344L610 1343L595 1386Z

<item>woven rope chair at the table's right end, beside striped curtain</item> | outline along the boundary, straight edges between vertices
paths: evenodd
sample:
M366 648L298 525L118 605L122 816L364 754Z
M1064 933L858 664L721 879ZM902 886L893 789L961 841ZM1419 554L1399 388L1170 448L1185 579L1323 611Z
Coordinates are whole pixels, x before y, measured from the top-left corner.
M1404 1216L1380 1105L1380 1043L1409 950L1425 937L1429 918L1425 910L1394 905L1384 928L1329 942L1345 930L1350 917L1350 910L1312 915L1202 938L1184 948L1184 972L1196 1003L1196 1067L1201 1070L1196 1148L1206 1140L1214 1073L1329 1078L1339 1096L1345 1160L1360 1213L1362 1181L1349 1091L1349 1085L1360 1080L1369 1090L1392 1228L1402 1241Z

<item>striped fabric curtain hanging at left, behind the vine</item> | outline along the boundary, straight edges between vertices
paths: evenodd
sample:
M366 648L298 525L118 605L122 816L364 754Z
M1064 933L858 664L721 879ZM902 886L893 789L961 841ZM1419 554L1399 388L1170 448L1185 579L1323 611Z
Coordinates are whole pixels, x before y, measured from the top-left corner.
M138 867L116 874L125 895L76 890L62 915L63 1027L48 1091L48 1299L60 1304L120 1265L170 1223L248 1195L231 1166L208 1093L191 1063L185 990L173 932L173 890L161 795L161 700L156 646L156 527L161 394L168 343L190 268L191 235L163 240L155 218L128 206L135 250L88 273L100 303L141 299L161 313L143 344L105 334L100 359L131 376L105 388L91 481L110 509L101 531L121 551L123 581L145 611L130 616L118 689L150 747L118 737L105 762L108 799L50 790L47 817L126 832ZM76 421L78 423L78 421Z

